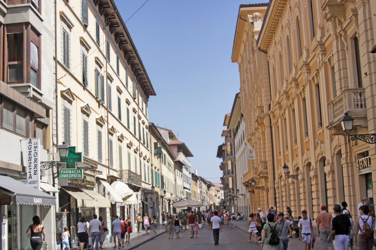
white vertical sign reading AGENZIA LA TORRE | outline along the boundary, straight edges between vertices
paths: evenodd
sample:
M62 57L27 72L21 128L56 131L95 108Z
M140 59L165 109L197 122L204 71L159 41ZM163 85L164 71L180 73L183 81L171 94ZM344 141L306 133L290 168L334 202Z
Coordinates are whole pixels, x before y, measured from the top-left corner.
M39 189L39 138L27 139L27 185Z

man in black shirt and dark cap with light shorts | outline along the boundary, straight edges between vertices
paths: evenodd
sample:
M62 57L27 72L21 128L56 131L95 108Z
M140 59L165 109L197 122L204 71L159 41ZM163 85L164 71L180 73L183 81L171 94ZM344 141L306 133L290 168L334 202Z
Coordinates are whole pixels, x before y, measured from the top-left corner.
M350 218L348 215L341 213L339 204L335 204L333 210L335 217L332 220L330 235L331 239L334 240L334 248L348 250L350 245L349 234L352 228Z

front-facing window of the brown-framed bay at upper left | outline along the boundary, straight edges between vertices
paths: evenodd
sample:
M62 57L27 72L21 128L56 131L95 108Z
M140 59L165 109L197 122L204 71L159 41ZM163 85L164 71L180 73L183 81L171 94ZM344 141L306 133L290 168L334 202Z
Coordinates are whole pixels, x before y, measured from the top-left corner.
M8 82L23 81L24 33L7 34Z

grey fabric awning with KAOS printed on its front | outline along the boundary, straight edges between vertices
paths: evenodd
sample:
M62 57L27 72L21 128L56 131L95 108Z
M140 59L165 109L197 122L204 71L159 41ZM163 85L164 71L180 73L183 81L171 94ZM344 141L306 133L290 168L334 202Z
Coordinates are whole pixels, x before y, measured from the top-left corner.
M16 204L56 206L56 197L8 176L0 175L0 188L4 189L5 193L15 196Z

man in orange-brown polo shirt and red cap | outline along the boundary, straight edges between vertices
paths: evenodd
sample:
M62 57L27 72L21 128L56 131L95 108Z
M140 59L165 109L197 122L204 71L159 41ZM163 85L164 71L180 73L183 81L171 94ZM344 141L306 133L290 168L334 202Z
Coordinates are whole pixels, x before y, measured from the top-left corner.
M317 216L317 233L321 236L321 249L331 250L333 242L329 239L332 216L327 212L326 206L321 206L321 213Z

